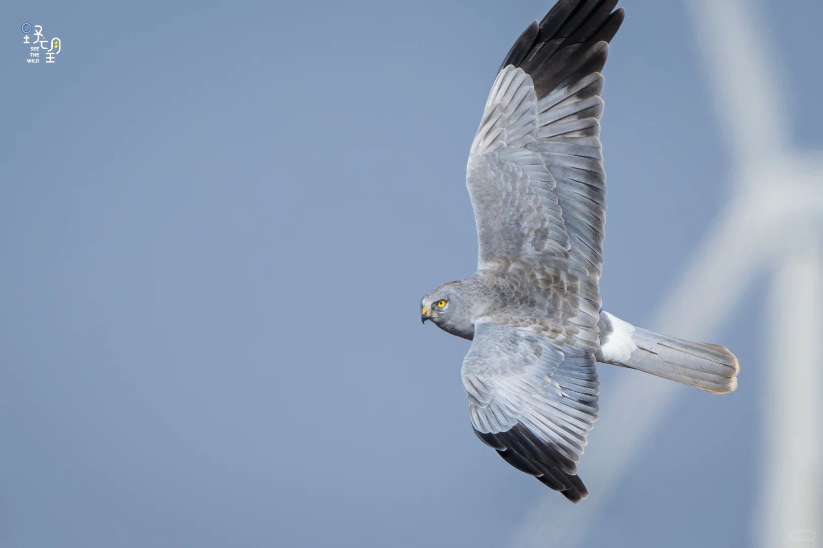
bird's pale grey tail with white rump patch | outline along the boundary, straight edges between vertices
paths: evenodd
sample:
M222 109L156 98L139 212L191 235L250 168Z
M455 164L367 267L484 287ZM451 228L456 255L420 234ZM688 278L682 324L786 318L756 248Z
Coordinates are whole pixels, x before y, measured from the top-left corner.
M600 313L597 361L637 369L714 394L737 388L740 365L724 346L686 341Z

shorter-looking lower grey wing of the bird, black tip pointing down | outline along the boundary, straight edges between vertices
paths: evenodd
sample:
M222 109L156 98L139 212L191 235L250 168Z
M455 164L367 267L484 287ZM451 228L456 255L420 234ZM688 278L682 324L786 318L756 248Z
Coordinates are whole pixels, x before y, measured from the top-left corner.
M597 418L594 356L556 346L537 322L475 324L463 360L472 426L506 462L578 503L586 434Z

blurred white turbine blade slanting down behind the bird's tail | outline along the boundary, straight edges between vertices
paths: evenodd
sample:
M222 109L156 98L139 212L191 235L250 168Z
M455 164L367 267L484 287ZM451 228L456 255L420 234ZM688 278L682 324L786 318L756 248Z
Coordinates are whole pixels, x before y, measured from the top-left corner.
M677 289L663 301L651 326L677 337L707 339L726 319L751 286L765 258L762 243L772 226L762 222L765 201L737 204L682 276ZM625 471L671 406L675 383L645 374L625 372L616 387L603 387L597 428L589 435L580 475L591 495L572 506L546 495L515 532L511 548L579 546L602 503L611 498Z

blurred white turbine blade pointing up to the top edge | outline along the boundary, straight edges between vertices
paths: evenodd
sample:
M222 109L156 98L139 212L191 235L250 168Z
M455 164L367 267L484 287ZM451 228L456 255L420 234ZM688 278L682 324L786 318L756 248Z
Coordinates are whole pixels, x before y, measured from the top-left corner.
M718 119L738 165L788 146L783 81L747 0L690 0Z

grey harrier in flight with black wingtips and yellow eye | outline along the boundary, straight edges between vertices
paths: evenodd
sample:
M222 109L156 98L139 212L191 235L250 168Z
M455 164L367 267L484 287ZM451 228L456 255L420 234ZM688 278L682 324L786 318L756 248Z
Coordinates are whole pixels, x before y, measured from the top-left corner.
M574 503L588 495L576 463L597 418L595 362L718 394L739 370L723 346L601 308L601 70L616 3L560 0L504 58L467 164L477 272L422 301L424 323L472 341L462 374L477 437Z

